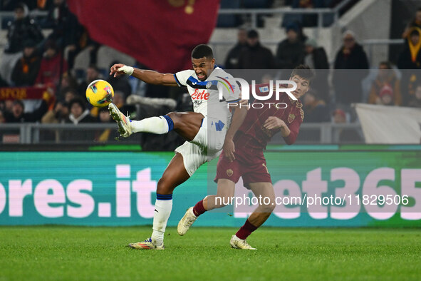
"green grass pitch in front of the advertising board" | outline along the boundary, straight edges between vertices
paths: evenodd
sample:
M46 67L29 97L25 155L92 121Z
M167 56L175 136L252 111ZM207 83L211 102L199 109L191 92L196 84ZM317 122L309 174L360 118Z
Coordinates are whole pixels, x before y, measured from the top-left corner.
M420 280L420 229L168 228L166 249L126 245L150 227L0 227L0 280Z

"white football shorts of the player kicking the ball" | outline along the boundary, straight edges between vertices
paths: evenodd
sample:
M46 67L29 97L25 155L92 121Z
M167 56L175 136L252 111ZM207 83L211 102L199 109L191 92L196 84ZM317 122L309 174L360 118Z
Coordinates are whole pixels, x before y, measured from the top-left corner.
M200 127L194 139L186 141L175 149L176 153L183 156L184 168L190 176L202 164L217 158L221 154L227 130L224 128L222 131L217 131L214 128L214 123L217 122L214 118L204 117L202 127Z

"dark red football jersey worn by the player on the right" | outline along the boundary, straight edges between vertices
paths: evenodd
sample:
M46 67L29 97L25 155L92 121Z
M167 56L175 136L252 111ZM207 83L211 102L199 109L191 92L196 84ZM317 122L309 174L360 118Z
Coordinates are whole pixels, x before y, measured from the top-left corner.
M269 84L256 85L255 91L258 96L267 96ZM270 116L280 118L288 126L291 133L284 138L287 144L291 145L296 141L300 125L304 120L303 104L300 100L294 101L287 93L280 93L279 100L276 100L274 88L272 97L269 100L255 100L250 106L251 108L234 141L246 142L244 144L249 148L265 149L272 136L281 131L281 129L268 130L264 128L263 125Z

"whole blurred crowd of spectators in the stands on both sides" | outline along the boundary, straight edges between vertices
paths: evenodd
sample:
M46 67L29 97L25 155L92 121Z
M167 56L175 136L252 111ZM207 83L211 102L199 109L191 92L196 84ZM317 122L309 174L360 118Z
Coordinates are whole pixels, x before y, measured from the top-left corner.
M273 3L262 2L264 5ZM318 8L333 7L340 1L284 2L293 8ZM65 0L22 1L19 4L3 0L1 5L2 10L14 11L14 19L7 23L7 45L0 62L0 86L43 86L47 91L42 101L0 101L0 123L111 122L105 109L92 108L85 100L85 88L98 78L111 83L115 90L114 102L132 114L136 109L128 106L126 100L132 93L139 92L142 92L141 96L175 98L175 109L188 110L188 98L180 89L145 86L125 76L110 77L107 69L98 69L96 58L100 44L90 39L88 31L69 11ZM30 9L48 11L48 16L36 21L29 15ZM414 19L402 33L405 44L395 65L385 60L378 66L370 66L363 46L358 44L358 34L350 30L343 32L342 46L333 63L329 62L325 49L315 39L303 34L303 26L311 26L311 21L313 19L306 16L286 17L282 27L286 39L279 42L276 53L261 44L258 31L239 29L237 44L221 66L282 71L301 63L308 64L316 70L316 80L303 98L305 122L355 121L351 103L421 108L421 9L416 11ZM49 29L51 33L43 36L43 29ZM90 54L90 66L82 76L76 75L74 70L75 58L80 51ZM141 63L137 66L142 67ZM375 72L370 71L370 67L375 68ZM270 78L276 77L265 79ZM364 83L369 86L364 86Z

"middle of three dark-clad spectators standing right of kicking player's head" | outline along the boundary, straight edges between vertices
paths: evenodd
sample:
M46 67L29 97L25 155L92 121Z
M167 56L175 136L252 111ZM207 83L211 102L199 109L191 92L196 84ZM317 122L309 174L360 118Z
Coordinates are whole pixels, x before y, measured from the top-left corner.
M304 62L304 44L300 41L298 24L286 26L286 39L281 41L276 51L276 63L280 69L293 69Z

